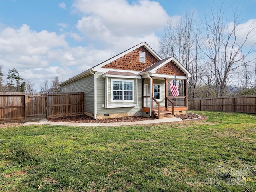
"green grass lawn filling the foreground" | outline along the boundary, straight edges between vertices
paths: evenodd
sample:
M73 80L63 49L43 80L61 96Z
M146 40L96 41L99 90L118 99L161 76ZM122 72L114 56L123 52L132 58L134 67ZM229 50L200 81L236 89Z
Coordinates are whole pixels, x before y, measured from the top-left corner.
M208 119L0 129L0 191L255 192L256 115L194 113Z

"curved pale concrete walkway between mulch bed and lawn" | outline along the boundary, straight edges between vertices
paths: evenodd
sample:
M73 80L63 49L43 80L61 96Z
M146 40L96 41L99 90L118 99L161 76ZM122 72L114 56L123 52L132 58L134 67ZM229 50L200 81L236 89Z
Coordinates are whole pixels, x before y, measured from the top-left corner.
M117 122L117 123L68 123L68 122L52 122L46 119L26 122L23 126L26 125L65 125L65 126L123 126L123 125L142 125L142 124L154 124L154 123L165 123L165 122L177 122L182 121L180 118L171 117L163 119L152 119L145 121L134 121L134 122Z

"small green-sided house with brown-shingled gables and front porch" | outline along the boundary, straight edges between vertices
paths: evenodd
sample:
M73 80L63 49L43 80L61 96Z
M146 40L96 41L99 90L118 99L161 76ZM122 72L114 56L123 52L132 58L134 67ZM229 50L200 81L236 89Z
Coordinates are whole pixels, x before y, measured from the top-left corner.
M168 95L168 81L184 81L183 96ZM162 59L142 42L65 82L62 92L84 92L84 114L93 118L164 118L187 112L191 74L174 57Z

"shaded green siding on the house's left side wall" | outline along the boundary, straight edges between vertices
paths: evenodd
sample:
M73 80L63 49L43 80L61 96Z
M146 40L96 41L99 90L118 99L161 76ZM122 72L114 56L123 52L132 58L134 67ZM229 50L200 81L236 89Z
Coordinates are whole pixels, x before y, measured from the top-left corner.
M68 88L68 92L72 91L72 86L74 86L74 92L81 91L84 92L84 112L94 113L94 76L89 74L83 78L76 81L70 82L61 86L60 89L65 91Z

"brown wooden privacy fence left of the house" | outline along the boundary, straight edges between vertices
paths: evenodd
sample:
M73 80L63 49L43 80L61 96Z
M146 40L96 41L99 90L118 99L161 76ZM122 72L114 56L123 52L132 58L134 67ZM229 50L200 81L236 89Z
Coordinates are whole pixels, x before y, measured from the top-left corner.
M84 114L84 92L0 92L0 121Z

